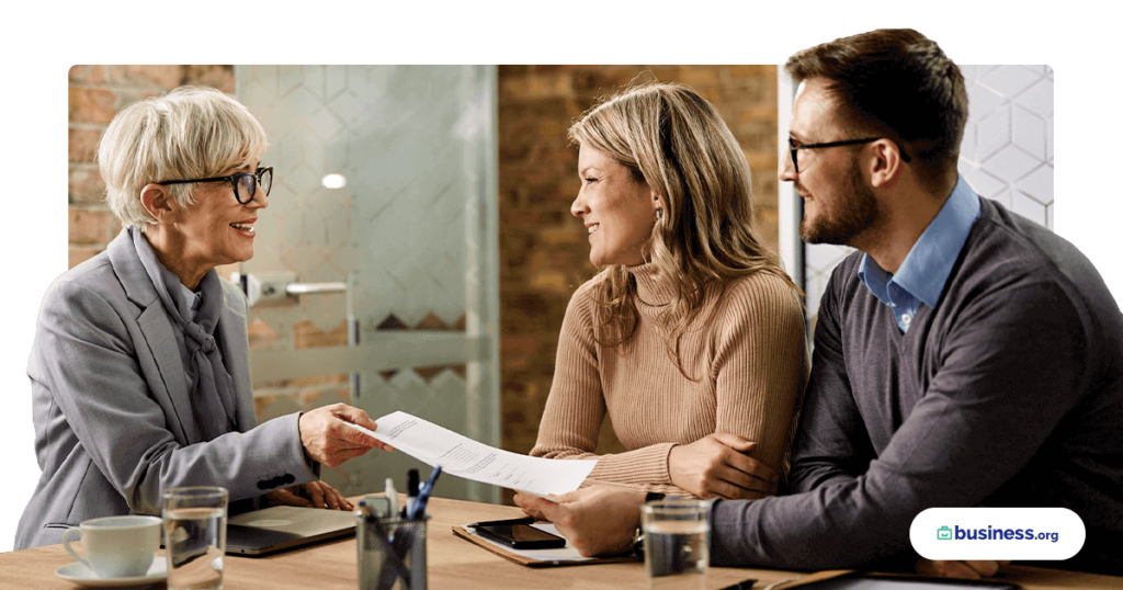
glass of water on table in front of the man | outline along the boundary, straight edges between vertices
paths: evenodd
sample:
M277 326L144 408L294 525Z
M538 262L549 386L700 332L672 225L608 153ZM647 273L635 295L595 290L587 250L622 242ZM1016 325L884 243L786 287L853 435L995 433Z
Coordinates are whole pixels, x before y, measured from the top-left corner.
M659 500L645 503L640 510L648 588L705 590L710 502Z

